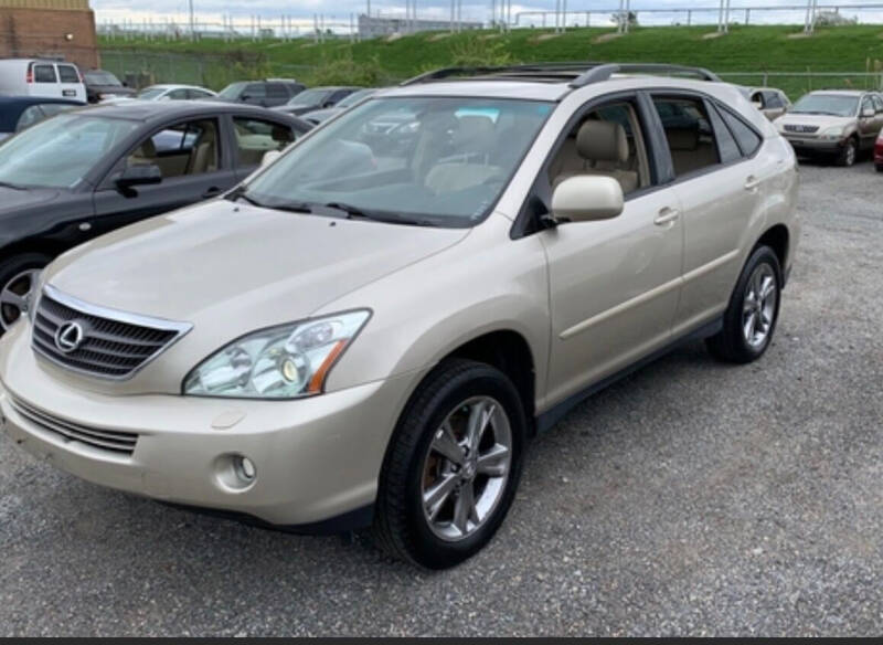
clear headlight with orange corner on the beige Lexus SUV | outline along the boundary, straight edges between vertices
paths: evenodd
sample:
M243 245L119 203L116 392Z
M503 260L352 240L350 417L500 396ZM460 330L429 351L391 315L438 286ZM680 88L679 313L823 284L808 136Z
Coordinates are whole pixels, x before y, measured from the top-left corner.
M370 317L360 309L244 336L190 372L183 392L236 399L321 394L328 372Z

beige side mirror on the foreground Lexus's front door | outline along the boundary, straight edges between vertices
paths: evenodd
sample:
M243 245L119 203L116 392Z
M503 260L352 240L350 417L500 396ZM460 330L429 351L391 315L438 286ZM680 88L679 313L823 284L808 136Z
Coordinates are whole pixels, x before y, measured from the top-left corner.
M562 221L610 220L624 208L623 187L610 177L571 177L552 193L552 214Z

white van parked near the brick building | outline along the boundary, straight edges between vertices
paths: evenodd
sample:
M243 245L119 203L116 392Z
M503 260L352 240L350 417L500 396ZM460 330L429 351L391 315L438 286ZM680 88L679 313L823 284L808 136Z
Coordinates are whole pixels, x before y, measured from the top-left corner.
M73 63L7 59L0 61L0 95L47 96L86 103L86 86Z

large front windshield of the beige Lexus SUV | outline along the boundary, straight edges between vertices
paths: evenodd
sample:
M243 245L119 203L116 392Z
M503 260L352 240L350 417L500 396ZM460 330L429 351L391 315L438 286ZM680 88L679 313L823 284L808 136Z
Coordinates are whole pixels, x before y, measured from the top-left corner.
M552 110L520 99L375 98L295 146L238 197L299 212L330 207L471 226L493 208Z

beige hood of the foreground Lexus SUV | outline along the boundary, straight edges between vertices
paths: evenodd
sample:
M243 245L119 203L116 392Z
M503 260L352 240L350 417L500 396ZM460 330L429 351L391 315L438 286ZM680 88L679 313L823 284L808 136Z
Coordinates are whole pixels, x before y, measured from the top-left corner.
M467 233L217 200L78 246L46 282L87 303L233 338L309 316Z

